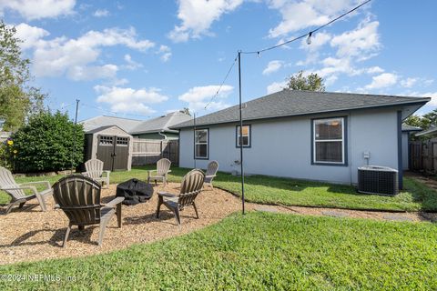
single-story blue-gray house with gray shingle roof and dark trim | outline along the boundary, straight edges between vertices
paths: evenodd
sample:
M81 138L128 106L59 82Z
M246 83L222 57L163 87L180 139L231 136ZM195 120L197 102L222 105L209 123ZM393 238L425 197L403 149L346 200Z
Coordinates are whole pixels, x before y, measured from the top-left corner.
M356 184L359 166L401 170L401 124L430 98L292 91L243 104L245 173ZM179 166L239 171L239 105L173 126ZM366 159L366 157L369 157ZM402 171L399 171L401 186Z

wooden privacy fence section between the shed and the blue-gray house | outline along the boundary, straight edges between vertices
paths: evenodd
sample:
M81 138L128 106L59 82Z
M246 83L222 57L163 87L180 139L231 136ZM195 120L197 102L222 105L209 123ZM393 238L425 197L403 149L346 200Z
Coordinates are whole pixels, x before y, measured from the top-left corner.
M166 157L173 165L179 163L178 140L155 140L134 138L132 145L132 166L156 164Z

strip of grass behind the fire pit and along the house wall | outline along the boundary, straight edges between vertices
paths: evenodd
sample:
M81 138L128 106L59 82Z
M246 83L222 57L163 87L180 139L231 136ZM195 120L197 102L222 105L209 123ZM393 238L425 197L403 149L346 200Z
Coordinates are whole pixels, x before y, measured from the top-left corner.
M111 183L120 183L129 178L147 178L147 169L153 166L135 167L132 171L111 173ZM189 169L172 167L169 180L180 182ZM60 176L20 177L17 182L48 179L55 183ZM327 183L293 180L270 176L247 176L246 199L262 204L280 204L285 206L322 206L349 209L378 209L399 211L435 211L437 210L437 191L425 186L413 178L404 178L404 191L400 195L374 196L357 193L355 187L333 185ZM215 186L240 195L241 188L238 176L219 173L214 181ZM0 195L0 203L7 203L8 196Z

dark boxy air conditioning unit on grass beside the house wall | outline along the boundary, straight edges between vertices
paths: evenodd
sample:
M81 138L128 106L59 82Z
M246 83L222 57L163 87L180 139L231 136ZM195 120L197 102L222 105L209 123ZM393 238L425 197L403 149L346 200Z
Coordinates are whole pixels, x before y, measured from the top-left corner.
M395 196L399 193L398 171L387 166L358 168L358 192Z

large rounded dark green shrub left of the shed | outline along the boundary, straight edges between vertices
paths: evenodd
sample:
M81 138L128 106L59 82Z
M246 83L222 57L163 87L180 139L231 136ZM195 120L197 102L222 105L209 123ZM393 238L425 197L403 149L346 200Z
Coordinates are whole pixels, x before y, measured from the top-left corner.
M66 114L60 112L43 112L31 117L27 125L12 135L15 172L46 172L71 168L75 135L73 166L76 167L84 158L85 135L82 125L75 125Z

